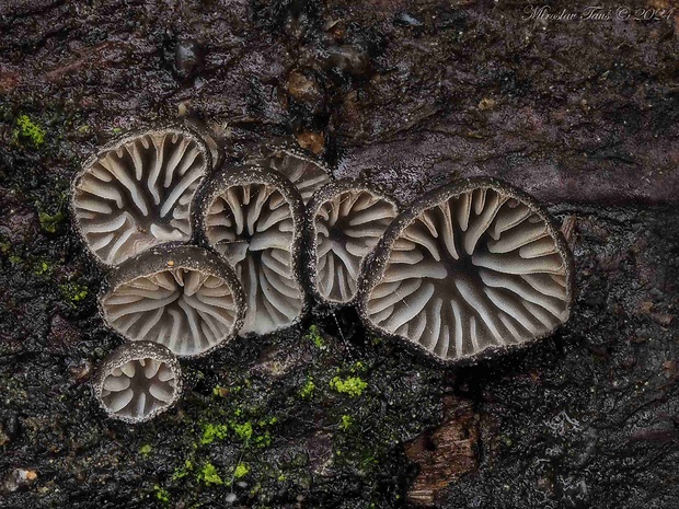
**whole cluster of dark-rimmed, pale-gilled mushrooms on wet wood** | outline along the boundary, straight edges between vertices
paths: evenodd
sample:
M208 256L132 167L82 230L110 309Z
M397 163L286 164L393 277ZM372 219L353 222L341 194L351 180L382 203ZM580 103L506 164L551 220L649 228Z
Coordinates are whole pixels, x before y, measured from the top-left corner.
M166 410L179 359L288 327L313 301L355 305L369 329L442 361L568 319L566 242L507 184L456 180L402 208L285 143L220 163L209 137L168 127L102 148L73 180L76 229L107 274L101 315L127 339L93 384L111 417Z

